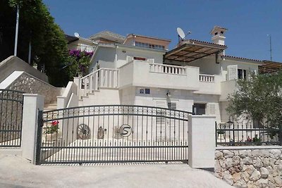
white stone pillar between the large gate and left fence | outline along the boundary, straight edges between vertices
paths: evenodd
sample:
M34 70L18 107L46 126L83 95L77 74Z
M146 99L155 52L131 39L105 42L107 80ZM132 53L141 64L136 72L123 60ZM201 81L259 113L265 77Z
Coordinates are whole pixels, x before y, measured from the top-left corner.
M22 156L35 163L38 111L43 111L44 96L23 94Z

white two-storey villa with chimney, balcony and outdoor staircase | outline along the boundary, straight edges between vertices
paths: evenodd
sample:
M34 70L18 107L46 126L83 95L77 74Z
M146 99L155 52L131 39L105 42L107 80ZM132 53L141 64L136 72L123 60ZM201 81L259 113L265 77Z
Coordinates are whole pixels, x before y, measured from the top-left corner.
M226 31L215 26L212 42L185 39L172 50L169 39L134 34L123 43L99 42L91 73L75 78L78 102L64 103L156 106L215 115L218 123L226 122L226 98L235 91L236 80L258 73L263 63L226 55Z

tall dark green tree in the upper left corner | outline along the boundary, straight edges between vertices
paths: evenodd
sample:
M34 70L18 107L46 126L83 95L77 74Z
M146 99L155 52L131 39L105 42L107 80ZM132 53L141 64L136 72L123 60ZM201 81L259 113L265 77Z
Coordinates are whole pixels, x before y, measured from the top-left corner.
M16 5L20 6L18 57L27 62L28 46L32 44L32 62L55 86L66 85L70 79L66 65L68 50L63 31L54 23L42 0L0 0L0 60L13 55L16 27Z

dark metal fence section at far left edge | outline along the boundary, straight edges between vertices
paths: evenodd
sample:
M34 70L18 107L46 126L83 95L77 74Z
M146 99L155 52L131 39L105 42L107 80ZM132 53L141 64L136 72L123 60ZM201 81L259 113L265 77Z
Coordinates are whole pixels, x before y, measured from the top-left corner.
M20 147L23 92L0 89L0 148Z

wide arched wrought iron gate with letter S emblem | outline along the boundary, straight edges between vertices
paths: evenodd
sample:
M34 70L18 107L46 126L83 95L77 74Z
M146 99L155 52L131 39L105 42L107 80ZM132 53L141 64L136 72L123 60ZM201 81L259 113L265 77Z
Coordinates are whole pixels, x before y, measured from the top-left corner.
M126 105L40 111L36 161L188 161L188 114Z

